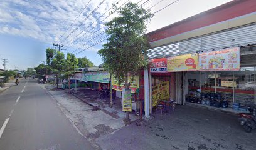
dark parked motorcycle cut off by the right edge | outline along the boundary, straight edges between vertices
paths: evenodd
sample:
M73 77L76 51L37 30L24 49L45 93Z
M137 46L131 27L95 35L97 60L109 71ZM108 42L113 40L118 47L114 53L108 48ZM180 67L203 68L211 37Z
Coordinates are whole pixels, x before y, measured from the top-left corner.
M238 120L245 132L250 133L252 129L256 129L256 107L248 107L248 111L250 113L239 113L240 118Z

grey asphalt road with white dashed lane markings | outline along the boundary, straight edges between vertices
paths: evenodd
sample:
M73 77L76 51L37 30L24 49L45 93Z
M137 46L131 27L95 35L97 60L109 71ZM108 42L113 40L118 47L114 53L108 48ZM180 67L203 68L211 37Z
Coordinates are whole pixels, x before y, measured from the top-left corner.
M0 149L94 149L35 79L0 94Z

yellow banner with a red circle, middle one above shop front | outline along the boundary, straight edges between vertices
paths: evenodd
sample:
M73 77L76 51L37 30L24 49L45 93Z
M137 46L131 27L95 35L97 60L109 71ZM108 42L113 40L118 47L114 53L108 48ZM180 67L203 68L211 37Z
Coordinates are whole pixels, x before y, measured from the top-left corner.
M167 59L167 71L197 71L198 70L198 54L185 54L181 56L172 56Z

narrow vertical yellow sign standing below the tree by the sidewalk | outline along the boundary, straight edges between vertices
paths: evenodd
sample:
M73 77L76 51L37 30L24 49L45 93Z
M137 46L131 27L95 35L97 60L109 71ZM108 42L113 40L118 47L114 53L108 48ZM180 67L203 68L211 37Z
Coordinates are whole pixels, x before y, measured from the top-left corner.
M122 111L132 111L132 91L131 89L122 90Z

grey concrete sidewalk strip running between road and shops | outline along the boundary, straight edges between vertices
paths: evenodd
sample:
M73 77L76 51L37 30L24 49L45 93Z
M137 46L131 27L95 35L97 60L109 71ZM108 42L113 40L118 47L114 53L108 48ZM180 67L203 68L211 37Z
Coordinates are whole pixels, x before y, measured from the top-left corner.
M95 109L72 94L65 93L64 90L52 90L56 88L52 84L42 84L52 98L56 99L61 111L79 129L81 134L88 138L92 144L100 149L95 139L106 134L113 133L125 126L123 118L115 118L105 113L104 109Z

